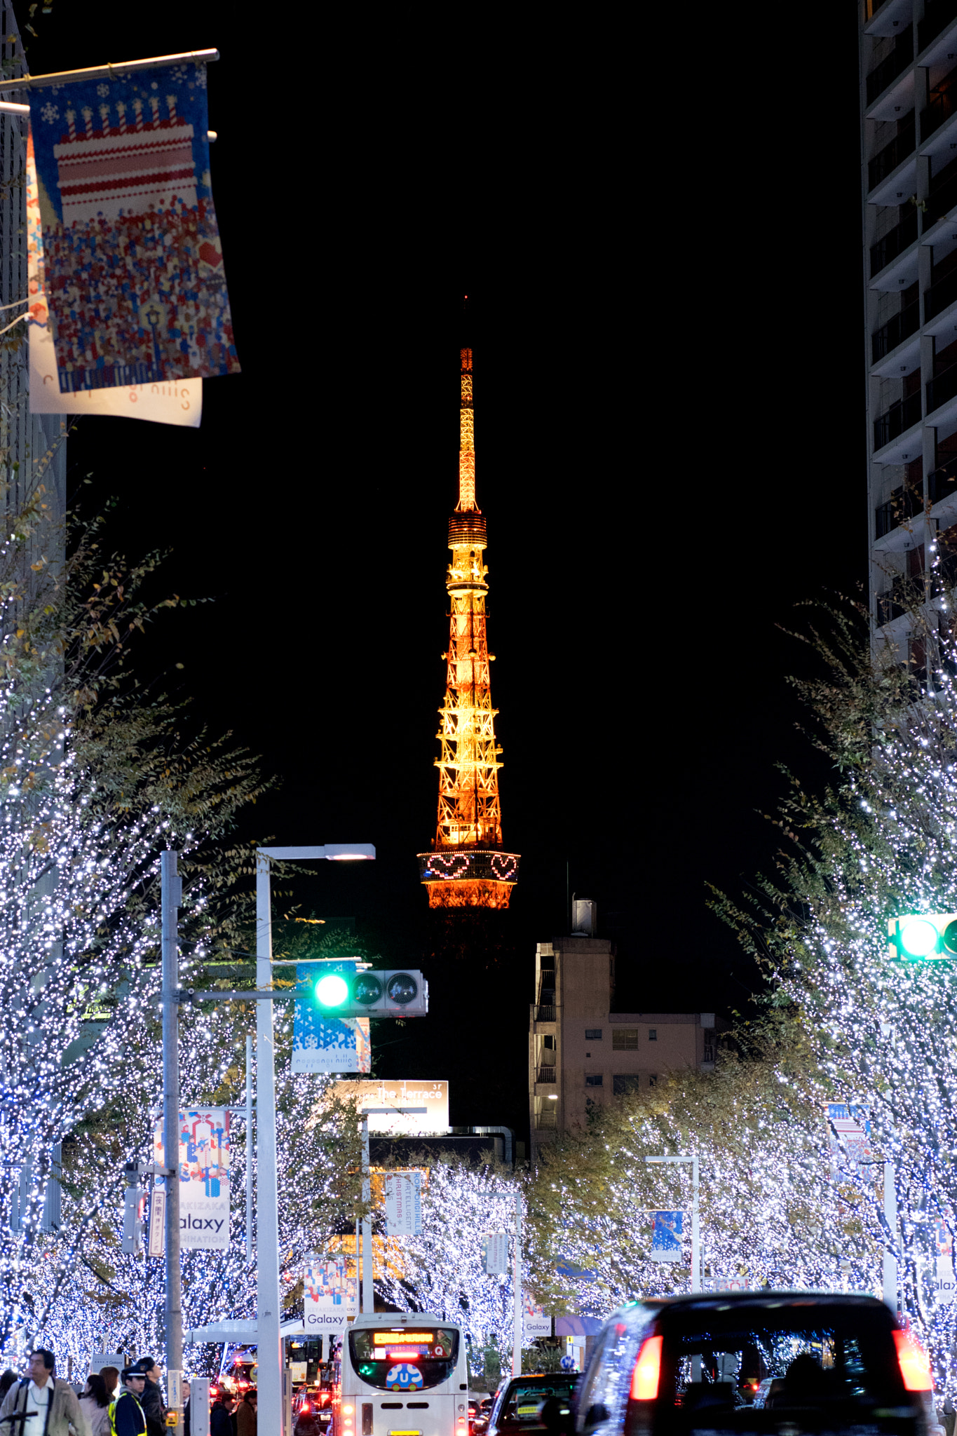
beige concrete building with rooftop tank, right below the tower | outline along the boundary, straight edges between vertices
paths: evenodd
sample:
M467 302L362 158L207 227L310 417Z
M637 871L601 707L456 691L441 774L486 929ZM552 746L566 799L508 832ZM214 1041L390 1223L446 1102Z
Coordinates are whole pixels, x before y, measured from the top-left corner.
M716 1031L713 1012L614 1011L607 939L539 942L528 1030L532 1159L542 1142L584 1124L593 1103L653 1087L666 1071L713 1070Z

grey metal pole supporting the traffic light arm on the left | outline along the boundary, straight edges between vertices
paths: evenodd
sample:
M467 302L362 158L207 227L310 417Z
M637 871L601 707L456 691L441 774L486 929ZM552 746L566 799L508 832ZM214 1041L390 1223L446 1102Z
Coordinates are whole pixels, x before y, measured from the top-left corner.
M164 1167L172 1170L166 1183L166 1394L179 1417L182 1373L182 1272L179 1268L179 988L178 913L182 879L176 854L161 853L159 892L162 910L162 1140ZM174 1406L174 1402L176 1403ZM178 1422L181 1425L181 1420Z

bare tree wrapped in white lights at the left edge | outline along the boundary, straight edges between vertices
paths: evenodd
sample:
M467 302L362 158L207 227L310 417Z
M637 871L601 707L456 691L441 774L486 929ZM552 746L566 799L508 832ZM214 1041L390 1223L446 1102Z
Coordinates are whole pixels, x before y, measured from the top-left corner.
M105 1170L102 1183L86 1173L65 1203L69 1231L42 1229L53 1147L136 1090L141 1076L156 1081L149 1004L159 987L159 852L182 853L184 935L194 951L228 941L240 920L232 886L253 863L224 837L263 790L247 754L185 735L182 708L141 696L128 675L131 638L158 607L179 603L142 599L156 557L136 566L108 557L99 523L77 530L63 557L42 498L37 490L0 518L7 1350L50 1318L89 1234L116 1205L105 1198L110 1182L122 1199L118 1172Z

